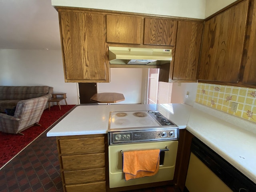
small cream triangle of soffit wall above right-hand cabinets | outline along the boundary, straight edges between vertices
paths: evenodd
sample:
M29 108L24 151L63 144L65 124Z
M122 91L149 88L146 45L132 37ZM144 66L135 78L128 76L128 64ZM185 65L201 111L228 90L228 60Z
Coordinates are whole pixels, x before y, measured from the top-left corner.
M206 0L205 18L216 13L236 0Z

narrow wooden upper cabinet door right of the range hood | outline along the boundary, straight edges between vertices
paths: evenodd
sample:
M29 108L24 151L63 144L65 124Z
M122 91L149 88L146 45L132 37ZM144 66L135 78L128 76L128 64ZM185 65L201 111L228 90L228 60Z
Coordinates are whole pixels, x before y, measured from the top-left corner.
M178 21L172 80L197 80L203 23Z

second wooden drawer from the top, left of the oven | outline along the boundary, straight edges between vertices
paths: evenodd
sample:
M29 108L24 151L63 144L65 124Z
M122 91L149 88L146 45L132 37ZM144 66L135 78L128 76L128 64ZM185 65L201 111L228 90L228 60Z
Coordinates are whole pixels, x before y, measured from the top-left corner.
M63 169L105 167L105 153L61 156Z

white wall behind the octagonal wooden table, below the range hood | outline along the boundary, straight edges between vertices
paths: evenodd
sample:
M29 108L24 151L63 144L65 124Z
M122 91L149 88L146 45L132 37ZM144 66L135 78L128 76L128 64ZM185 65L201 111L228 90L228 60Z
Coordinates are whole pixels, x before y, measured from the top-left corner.
M98 93L124 94L124 101L116 104L141 103L142 69L110 68L111 82L97 83Z

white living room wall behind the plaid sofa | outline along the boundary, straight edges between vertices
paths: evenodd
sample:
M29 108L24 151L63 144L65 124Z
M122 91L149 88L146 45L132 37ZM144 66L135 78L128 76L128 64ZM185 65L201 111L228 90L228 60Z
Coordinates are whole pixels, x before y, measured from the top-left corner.
M61 50L0 50L0 58L0 85L51 86L78 104L76 83L64 82Z

